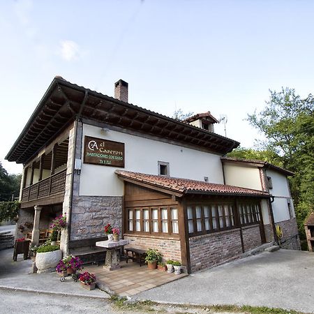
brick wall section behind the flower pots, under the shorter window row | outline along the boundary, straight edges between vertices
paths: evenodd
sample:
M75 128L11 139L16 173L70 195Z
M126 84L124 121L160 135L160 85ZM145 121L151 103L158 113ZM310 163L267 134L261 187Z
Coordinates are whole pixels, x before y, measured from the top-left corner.
M159 239L156 237L141 237L133 235L125 235L124 239L130 241L128 246L132 248L147 248L157 249L163 261L166 260L179 260L181 262L181 246L179 239Z

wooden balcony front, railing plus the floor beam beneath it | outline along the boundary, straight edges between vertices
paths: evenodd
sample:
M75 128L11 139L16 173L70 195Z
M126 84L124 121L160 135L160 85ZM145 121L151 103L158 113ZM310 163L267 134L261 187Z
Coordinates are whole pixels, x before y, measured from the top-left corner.
M66 170L62 170L36 184L23 188L21 207L63 202L65 190Z

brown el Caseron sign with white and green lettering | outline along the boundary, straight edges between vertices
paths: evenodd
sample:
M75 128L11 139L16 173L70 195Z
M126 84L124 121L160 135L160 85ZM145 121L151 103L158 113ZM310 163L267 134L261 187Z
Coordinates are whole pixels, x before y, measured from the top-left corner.
M84 163L124 167L124 143L85 136Z

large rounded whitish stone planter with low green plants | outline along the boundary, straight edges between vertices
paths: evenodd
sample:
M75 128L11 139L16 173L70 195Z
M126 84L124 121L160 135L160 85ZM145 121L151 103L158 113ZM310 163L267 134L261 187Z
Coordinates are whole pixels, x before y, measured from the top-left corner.
M49 271L50 269L54 269L59 260L61 260L62 251L59 246L52 246L51 244L43 244L37 249L36 252L36 267L38 269L38 273L42 273L43 271Z

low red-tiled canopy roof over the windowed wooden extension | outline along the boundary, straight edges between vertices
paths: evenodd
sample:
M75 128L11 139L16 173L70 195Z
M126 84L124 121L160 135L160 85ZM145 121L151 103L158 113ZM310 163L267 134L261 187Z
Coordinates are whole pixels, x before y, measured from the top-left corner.
M181 179L165 176L157 176L154 174L144 174L139 172L129 172L124 170L116 170L116 174L122 179L129 181L142 182L143 184L151 185L165 190L172 190L183 194L209 194L209 195L243 195L243 196L260 196L269 197L269 193L262 190L252 190L251 188L240 188L239 186L227 186L224 184L211 184L203 181L190 179Z

